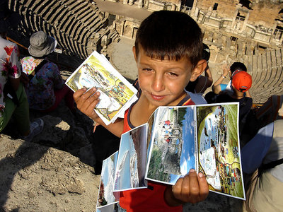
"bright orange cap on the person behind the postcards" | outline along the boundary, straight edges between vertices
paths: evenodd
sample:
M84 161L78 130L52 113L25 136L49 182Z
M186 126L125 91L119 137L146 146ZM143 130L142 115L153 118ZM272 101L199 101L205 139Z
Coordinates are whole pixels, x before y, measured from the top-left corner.
M252 86L252 76L246 71L238 71L233 75L232 85L241 92L246 92Z

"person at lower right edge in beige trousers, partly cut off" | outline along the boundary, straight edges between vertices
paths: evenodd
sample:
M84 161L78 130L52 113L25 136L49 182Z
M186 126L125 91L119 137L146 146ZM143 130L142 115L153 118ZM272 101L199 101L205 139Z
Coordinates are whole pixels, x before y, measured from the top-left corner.
M283 116L280 110L279 116ZM243 211L282 211L282 129L282 119L267 124L241 150L246 189Z

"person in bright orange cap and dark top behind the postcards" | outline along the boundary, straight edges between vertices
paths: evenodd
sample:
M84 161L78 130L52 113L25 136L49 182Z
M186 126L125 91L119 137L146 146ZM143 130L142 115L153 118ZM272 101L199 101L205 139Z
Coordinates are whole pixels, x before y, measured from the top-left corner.
M233 93L227 92L226 90L221 91L216 97L216 102L239 102L239 126L240 134L243 124L245 123L245 118L250 112L250 108L253 105L253 99L245 96L245 93L252 86L252 77L246 71L237 71L233 73L233 78L231 80L231 87Z

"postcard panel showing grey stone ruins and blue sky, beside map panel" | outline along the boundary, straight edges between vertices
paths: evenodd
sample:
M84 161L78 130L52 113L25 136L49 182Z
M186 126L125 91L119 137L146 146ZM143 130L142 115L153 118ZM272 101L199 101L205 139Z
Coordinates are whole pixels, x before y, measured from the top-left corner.
M158 107L146 179L175 184L196 169L194 106Z

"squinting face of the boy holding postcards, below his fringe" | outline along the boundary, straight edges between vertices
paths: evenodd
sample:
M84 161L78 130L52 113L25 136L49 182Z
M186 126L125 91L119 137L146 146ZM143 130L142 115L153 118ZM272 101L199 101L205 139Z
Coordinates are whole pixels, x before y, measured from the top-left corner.
M192 64L183 57L179 61L168 59L151 59L146 56L144 49L139 45L139 54L134 58L137 62L139 86L149 103L154 106L178 105L186 93L187 83L195 81L200 73L192 70Z

